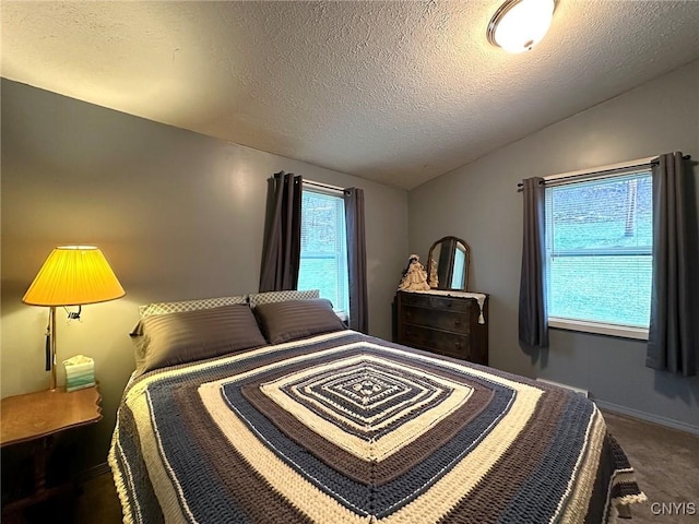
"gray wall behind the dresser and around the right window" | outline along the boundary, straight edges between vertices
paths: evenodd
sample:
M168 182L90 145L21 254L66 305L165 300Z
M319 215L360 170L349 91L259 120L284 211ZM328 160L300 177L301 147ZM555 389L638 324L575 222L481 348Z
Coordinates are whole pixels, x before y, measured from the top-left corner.
M593 80L592 80L593 81ZM699 159L699 62L549 126L408 194L410 251L445 235L471 247L472 290L490 294L490 365L588 389L602 405L699 431L699 378L644 367L643 342L552 330L532 361L518 344L528 177L683 151ZM695 168L695 186L699 186Z

